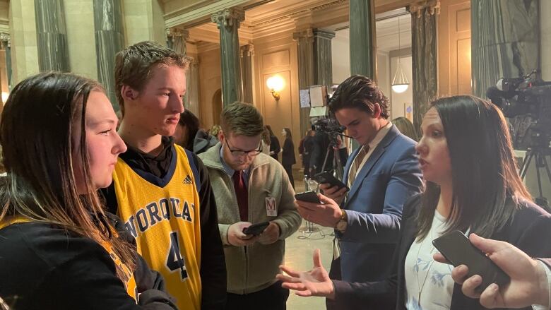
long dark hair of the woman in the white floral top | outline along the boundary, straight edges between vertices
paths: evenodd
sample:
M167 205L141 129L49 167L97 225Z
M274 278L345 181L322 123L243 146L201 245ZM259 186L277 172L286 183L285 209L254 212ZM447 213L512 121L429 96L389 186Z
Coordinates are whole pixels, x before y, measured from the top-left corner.
M470 228L490 237L511 219L520 200L531 201L516 172L505 118L495 105L474 96L445 97L431 105L442 119L451 161L446 231ZM427 181L417 217L419 237L432 226L439 194L439 186Z

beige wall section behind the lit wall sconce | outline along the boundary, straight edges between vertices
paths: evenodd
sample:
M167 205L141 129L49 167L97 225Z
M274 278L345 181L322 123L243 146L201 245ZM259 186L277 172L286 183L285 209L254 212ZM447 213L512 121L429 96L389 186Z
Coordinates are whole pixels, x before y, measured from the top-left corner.
M300 132L300 102L298 89L297 44L292 32L278 37L263 37L254 40L254 71L256 95L254 105L260 109L264 124L272 126L273 133L283 145L281 131L288 127L295 144L295 168L301 167L297 147L304 133ZM266 80L278 75L285 81L280 100L275 101L266 86ZM281 156L280 156L281 157Z

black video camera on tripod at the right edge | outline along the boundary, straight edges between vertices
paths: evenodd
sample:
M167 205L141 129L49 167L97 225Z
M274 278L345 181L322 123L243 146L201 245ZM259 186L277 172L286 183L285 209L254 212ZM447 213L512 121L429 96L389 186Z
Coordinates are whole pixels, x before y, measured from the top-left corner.
M517 123L514 141L521 143L530 136L527 145L515 145L516 148L540 146L549 148L551 141L551 82L531 78L532 71L520 78L502 78L496 86L487 89L486 97L502 109L505 117ZM516 117L529 119L528 124ZM531 131L531 135L528 135ZM524 144L524 143L521 143Z

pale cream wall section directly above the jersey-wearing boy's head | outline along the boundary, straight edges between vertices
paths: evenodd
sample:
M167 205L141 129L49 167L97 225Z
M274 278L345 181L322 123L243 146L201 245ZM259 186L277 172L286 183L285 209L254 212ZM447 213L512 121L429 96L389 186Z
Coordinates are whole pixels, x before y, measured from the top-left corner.
M155 41L165 45L165 20L158 0L123 0L125 45Z

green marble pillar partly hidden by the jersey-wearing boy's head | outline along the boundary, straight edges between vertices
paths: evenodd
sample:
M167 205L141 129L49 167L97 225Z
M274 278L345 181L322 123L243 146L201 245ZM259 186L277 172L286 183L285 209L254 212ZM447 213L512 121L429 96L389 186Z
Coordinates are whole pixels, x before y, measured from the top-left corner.
M119 0L94 0L97 80L103 84L115 111L119 111L114 88L115 55L124 46L122 7Z

